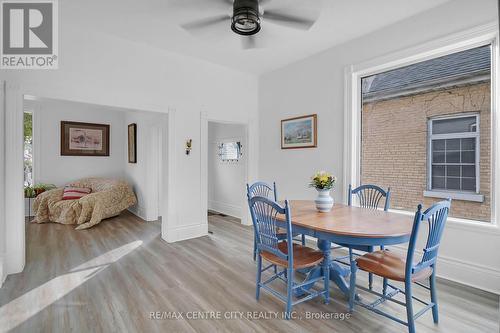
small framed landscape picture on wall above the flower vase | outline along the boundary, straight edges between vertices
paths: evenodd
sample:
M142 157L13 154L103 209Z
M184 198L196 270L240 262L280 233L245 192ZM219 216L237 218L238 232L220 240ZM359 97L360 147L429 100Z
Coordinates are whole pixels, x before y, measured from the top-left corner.
M318 146L317 115L281 121L281 149L314 148Z

